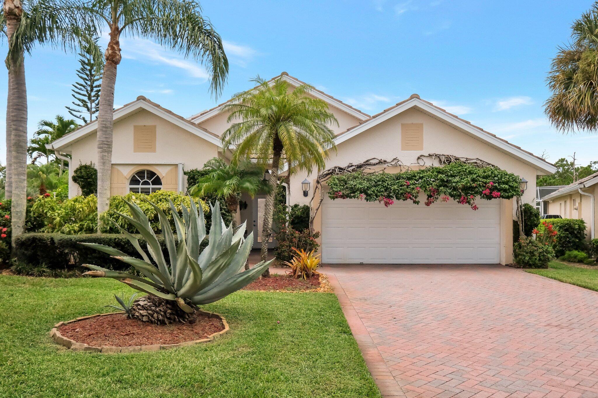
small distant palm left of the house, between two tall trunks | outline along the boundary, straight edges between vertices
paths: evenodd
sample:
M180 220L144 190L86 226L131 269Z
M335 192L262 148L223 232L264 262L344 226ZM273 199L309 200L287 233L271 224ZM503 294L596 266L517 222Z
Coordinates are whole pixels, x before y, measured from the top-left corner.
M54 153L47 149L45 144L49 144L63 135L74 131L79 125L75 122L75 119L65 119L63 116L56 115L56 122L42 120L39 121L38 127L38 131L33 133L35 137L29 140L29 147L27 148L27 153L31 156L32 163L35 163L42 156L45 156L46 163L50 162L50 156L53 156ZM60 175L62 175L64 162L63 159L60 159Z

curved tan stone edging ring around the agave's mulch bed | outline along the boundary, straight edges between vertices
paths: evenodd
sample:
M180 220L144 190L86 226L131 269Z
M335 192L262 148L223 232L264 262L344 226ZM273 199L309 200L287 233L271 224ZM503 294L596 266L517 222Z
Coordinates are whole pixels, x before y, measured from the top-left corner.
M216 313L209 312L209 311L202 311L202 310L197 310L197 312L202 315L220 319L222 322L222 325L224 325L224 329L222 329L219 332L210 334L208 337L202 338L200 340L183 341L182 343L176 343L176 344L133 345L133 346L129 346L129 347L113 347L113 346L108 346L108 345L103 346L103 347L94 347L93 345L78 343L77 341L66 338L63 335L61 335L60 331L58 330L58 328L60 328L60 326L66 325L67 323L78 322L80 320L89 319L89 318L93 318L96 316L106 316L106 315L118 314L115 312L109 312L109 313L105 313L105 314L81 316L81 317L78 317L77 319L72 319L67 322L56 323L56 325L54 325L54 328L50 331L50 337L56 343L58 343L60 345L64 345L66 348L71 348L71 350L73 350L73 351L90 351L90 352L94 352L94 353L114 354L114 353L135 353L135 352L140 352L140 351L167 350L169 348L186 347L187 345L208 343L208 341L213 341L216 338L222 336L223 334L225 334L226 332L229 331L230 328L228 327L228 323L226 322L226 319L224 319L224 317L221 316L220 314L216 314Z

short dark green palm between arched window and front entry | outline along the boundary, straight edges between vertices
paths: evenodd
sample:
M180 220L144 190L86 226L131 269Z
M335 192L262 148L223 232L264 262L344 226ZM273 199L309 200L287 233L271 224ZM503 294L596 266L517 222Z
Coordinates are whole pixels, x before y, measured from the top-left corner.
M213 158L203 165L202 171L206 174L188 189L190 195L215 195L224 199L233 216L233 227L236 227L241 194L245 192L253 198L263 189L264 169L247 159L227 165L224 159Z

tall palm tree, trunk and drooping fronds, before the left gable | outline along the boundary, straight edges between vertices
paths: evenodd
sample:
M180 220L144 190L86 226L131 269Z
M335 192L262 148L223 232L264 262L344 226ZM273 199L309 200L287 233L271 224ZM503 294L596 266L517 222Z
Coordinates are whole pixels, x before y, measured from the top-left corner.
M210 91L221 92L228 73L222 39L195 0L87 0L74 5L82 20L94 26L96 36L108 32L99 112L97 113L97 216L108 210L112 166L112 112L117 66L121 61L120 36L154 39L159 44L207 63Z

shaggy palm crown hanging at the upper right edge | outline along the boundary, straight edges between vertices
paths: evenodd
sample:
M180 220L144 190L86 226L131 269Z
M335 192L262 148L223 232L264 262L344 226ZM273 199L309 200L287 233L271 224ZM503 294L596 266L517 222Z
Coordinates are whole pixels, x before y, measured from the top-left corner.
M548 74L553 94L544 104L563 132L598 129L598 3L573 22L572 43L560 47Z

